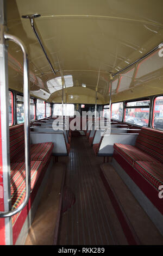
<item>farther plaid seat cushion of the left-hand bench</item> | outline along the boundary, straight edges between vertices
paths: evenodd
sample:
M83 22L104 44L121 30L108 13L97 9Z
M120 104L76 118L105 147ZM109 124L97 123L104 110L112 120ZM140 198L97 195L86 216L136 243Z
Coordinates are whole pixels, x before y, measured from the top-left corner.
M40 161L43 161L43 164L45 165L49 159L49 156L51 156L52 154L53 147L54 147L53 142L31 144L30 160L31 161L40 160ZM12 159L12 162L24 162L24 161L25 161L24 151L22 151L20 154L17 154L15 158Z

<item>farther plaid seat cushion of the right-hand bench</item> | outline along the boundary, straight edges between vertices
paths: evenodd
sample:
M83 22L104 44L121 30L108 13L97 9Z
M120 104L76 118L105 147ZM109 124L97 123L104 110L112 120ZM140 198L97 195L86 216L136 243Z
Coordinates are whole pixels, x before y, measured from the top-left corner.
M144 153L140 149L127 144L114 144L114 149L124 157L131 165L134 164L135 161L151 161L156 162L157 160L148 154Z

